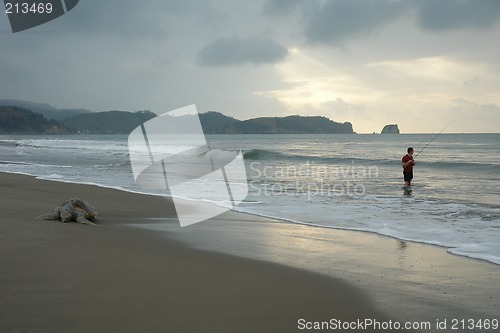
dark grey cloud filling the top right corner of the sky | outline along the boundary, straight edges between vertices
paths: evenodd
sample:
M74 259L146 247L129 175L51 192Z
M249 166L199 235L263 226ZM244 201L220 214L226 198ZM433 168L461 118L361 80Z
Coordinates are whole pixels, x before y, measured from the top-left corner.
M421 0L417 15L418 24L427 30L484 29L500 18L500 1Z

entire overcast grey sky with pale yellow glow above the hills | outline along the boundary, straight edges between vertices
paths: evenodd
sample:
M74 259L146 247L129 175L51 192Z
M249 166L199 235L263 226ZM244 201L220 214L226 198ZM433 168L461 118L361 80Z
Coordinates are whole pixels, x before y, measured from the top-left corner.
M0 41L0 98L500 132L499 0L81 0Z

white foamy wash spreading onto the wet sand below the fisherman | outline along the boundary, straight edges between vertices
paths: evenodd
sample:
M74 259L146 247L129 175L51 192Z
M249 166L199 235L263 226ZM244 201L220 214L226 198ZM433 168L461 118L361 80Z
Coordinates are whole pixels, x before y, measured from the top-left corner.
M240 205L236 210L293 223L368 231L439 245L448 248L450 253L500 265L499 220L484 218L499 216L500 208L412 198L366 196L350 203L342 199L309 200L307 196L284 199L275 196L266 197L261 205Z

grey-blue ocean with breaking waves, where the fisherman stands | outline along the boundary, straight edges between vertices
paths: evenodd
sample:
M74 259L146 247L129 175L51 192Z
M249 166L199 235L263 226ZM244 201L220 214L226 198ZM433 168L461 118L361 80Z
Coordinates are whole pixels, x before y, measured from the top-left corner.
M208 135L242 150L249 195L235 210L440 245L500 265L500 134ZM126 135L0 136L0 171L162 195L136 186ZM193 189L198 191L199 189ZM224 203L220 203L224 204ZM226 203L227 204L227 203Z

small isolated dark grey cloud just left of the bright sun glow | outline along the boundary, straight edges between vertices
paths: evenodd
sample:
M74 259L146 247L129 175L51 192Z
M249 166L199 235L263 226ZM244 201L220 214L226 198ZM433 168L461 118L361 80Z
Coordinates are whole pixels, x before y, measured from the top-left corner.
M287 54L285 47L266 37L219 38L200 50L198 63L202 66L274 64Z

